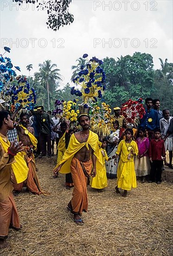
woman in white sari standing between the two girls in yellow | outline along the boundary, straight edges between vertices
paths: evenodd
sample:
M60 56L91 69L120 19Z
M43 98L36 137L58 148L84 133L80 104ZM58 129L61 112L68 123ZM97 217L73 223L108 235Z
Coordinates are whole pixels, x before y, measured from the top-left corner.
M108 157L111 157L115 155L116 149L118 147L118 141L119 141L119 122L116 120L113 122L114 126L114 132L112 132L108 137L108 150L107 154ZM107 171L107 177L109 179L115 179L116 178L116 172L117 172L118 162L114 164L114 159L110 160L109 162L106 162L106 171Z

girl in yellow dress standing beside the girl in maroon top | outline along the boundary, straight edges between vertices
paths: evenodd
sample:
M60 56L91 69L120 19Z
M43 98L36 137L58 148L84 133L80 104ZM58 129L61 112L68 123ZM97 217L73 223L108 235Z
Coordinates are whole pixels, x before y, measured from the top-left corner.
M126 129L126 139L122 140L117 148L115 162L120 155L120 161L117 169L117 186L115 187L116 193L120 193L119 188L124 190L122 196L127 196L127 191L131 188L136 188L136 174L134 156L138 155L138 146L135 141L132 140L133 130Z

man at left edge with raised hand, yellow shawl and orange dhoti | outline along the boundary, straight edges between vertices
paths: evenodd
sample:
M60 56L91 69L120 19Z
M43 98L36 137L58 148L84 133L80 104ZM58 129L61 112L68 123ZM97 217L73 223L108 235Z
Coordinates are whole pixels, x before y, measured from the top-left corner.
M10 144L8 130L13 129L13 121L7 111L0 111L0 249L8 247L5 239L9 227L19 230L20 222L13 198L11 172L16 163L15 156L22 151L22 142ZM15 166L14 166L15 167ZM22 169L22 166L20 167Z

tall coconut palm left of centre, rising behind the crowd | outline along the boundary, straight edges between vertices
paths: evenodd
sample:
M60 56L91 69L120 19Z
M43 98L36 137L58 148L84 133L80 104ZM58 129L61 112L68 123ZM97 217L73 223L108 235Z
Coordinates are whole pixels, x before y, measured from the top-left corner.
M39 64L39 72L35 73L35 78L39 81L42 86L47 89L48 97L48 110L50 110L50 93L51 95L55 92L57 82L61 81L61 77L57 64L51 64L50 60L44 61L43 64Z

